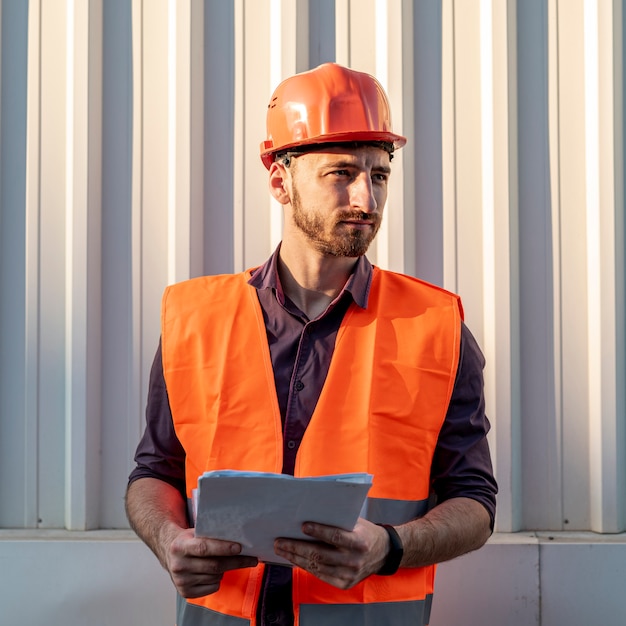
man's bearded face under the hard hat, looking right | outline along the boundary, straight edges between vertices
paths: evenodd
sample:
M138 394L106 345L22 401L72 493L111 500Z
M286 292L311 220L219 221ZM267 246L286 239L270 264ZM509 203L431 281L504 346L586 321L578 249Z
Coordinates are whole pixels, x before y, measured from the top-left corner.
M292 160L291 219L327 256L365 254L387 200L389 155L380 148L329 148Z

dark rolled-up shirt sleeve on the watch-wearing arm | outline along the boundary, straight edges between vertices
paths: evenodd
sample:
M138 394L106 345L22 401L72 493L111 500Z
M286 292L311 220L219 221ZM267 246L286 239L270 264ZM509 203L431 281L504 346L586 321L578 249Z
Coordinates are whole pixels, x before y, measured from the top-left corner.
M490 429L485 415L483 368L485 359L465 324L450 406L435 449L431 481L437 502L465 497L480 502L491 516L498 487L487 443Z

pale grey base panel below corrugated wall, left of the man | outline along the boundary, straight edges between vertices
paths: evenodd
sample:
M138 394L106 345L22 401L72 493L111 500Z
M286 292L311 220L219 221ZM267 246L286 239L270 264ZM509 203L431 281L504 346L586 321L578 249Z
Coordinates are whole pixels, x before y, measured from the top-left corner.
M8 536L7 534L8 533ZM130 531L0 535L2 620L48 626L171 626L176 595Z

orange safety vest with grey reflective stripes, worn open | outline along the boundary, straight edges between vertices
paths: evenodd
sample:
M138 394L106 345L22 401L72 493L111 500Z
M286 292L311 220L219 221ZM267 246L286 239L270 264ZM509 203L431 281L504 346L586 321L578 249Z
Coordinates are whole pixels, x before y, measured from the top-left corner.
M369 472L365 517L423 515L459 360L457 296L374 268L367 309L352 304L298 450L296 476ZM283 439L263 313L251 273L168 287L163 372L186 453L187 495L215 469L280 472ZM256 625L263 567L227 572L218 592L179 599L178 626ZM401 568L340 590L294 568L296 626L427 624L435 567Z

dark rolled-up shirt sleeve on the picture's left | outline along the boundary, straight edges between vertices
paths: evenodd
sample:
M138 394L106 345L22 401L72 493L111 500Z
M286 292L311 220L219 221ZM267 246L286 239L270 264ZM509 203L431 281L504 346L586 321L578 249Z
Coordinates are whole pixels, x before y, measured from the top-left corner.
M158 478L185 495L185 450L174 431L160 342L150 370L146 429L137 446L135 462L129 484L138 478Z

